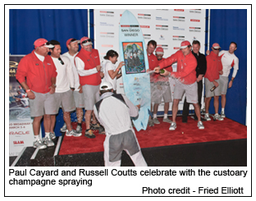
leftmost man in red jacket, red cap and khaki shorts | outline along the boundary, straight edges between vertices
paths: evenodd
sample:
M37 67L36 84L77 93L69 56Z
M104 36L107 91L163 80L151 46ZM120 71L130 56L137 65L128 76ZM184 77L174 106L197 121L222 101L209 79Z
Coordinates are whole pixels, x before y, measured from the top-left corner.
M54 146L50 135L51 115L56 114L54 92L57 71L53 59L48 55L49 48L54 46L46 39L34 41L34 50L19 63L16 80L25 89L30 98L30 116L34 117L34 148ZM45 137L39 139L40 121L43 118Z

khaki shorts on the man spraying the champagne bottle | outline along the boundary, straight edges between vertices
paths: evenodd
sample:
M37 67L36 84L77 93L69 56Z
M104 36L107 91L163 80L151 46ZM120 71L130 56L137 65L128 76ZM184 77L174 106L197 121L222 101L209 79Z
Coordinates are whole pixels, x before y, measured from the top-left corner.
M198 85L196 81L191 85L185 85L182 84L179 80L176 80L173 98L181 100L184 93L187 103L199 103Z

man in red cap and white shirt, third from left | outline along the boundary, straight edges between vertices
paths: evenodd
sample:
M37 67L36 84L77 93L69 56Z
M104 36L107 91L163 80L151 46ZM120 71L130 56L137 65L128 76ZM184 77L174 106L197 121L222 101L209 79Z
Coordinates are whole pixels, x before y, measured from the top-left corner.
M71 66L74 73L75 89L73 91L73 96L75 99L75 107L76 107L77 126L75 131L77 133L82 132L82 120L84 115L83 108L85 107L83 91L82 91L82 88L80 87L79 75L75 67L75 56L78 53L79 43L80 43L80 40L73 39L73 38L68 39L66 41L66 48L68 48L68 52L62 54L63 57L68 57L70 59ZM61 131L66 132L66 123L64 124L64 126L62 126Z

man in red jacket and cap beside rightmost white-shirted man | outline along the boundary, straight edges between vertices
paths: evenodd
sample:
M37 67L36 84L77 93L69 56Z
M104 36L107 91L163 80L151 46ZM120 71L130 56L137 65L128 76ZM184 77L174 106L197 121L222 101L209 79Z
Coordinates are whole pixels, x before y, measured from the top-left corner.
M219 96L221 95L221 88L219 86L219 79L220 75L223 74L222 71L222 61L221 57L218 56L218 53L220 52L220 45L218 43L213 43L212 52L206 56L206 62L207 62L207 70L204 75L204 82L205 82L205 116L204 118L207 121L211 121L211 118L209 116L209 106L210 101L212 97L214 97L214 109L215 109L215 115L214 118L218 121L223 121L222 116L218 114L218 107L219 107ZM211 91L211 89L213 89Z

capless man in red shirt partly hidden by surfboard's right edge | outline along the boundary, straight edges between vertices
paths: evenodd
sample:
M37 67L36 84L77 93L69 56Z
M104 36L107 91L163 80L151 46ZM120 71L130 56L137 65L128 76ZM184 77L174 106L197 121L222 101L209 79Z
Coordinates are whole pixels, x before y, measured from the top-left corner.
M158 58L153 54L153 51L157 48L157 42L154 40L149 40L147 44L147 56L149 60L149 70L147 71L153 71L153 69L158 66ZM156 74L152 73L150 74L150 89L151 89L151 100L153 99L154 93L153 93L153 88L154 88L154 81ZM152 101L151 101L152 102ZM151 103L151 108L150 111L152 112L152 103ZM149 123L148 126L154 126L153 124L153 119L151 116L149 116Z

